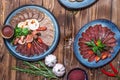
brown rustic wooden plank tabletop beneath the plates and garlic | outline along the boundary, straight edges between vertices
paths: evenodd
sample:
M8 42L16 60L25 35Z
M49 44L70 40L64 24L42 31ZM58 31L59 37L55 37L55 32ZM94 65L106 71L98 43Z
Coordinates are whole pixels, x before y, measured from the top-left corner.
M78 30L89 21L105 18L114 22L120 28L120 0L98 0L92 6L78 11L69 11L62 7L57 0L0 0L0 26L7 15L15 8L25 4L37 4L50 10L57 18L61 37L54 51L58 62L66 67L66 73L80 67L86 70L89 80L117 80L102 74L100 69L88 69L81 65L74 56L72 41ZM112 61L118 69L120 54ZM21 61L9 54L2 37L0 37L0 80L43 80L42 77L30 76L11 70L12 66L20 66ZM109 65L104 68L111 71ZM66 80L66 75L61 80Z

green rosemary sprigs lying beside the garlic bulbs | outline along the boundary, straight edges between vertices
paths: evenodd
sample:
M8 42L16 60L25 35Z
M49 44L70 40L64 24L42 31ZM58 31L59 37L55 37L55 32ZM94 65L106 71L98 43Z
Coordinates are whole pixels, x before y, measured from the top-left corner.
M52 70L46 67L45 64L41 61L35 63L35 64L39 64L39 66L35 66L35 64L26 61L23 61L23 64L26 65L27 68L13 67L12 69L20 72L32 74L35 76L44 76L49 80L51 79L58 80L58 78L55 76Z

